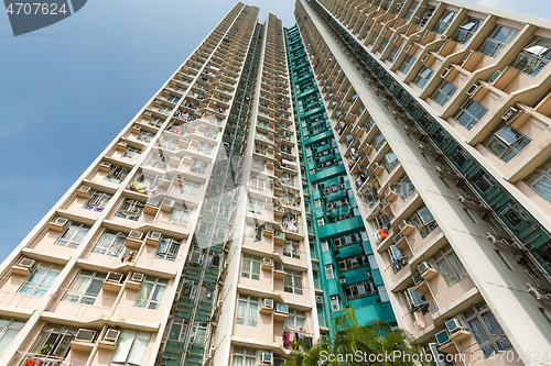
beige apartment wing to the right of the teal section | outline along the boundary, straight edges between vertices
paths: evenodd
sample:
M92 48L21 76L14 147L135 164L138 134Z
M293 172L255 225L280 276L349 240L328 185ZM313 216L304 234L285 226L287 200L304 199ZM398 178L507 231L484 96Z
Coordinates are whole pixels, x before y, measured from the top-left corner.
M551 22L453 0L295 16L399 326L456 364L549 364Z

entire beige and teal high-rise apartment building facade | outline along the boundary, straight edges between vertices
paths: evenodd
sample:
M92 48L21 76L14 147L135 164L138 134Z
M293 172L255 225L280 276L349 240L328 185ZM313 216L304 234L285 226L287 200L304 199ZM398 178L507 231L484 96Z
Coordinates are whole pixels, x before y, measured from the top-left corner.
M348 307L457 365L549 364L551 22L258 14L237 3L2 263L0 364L280 365Z

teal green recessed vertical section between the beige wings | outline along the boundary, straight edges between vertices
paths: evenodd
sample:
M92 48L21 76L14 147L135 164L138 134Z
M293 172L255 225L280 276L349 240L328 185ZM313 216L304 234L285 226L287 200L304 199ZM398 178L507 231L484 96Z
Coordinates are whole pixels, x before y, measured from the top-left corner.
M299 30L287 31L299 156L310 198L312 268L322 333L336 334L333 319L355 308L360 324L375 319L396 324L385 284L343 164ZM354 101L357 95L350 95ZM364 109L358 109L359 117Z

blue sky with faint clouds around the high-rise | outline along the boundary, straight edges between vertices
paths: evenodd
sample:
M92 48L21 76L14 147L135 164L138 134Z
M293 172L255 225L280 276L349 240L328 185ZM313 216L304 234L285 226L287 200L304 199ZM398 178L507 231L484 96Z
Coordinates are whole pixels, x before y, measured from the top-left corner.
M468 2L551 18L549 0ZM294 24L293 0L248 3ZM234 4L90 0L18 37L0 14L1 260Z

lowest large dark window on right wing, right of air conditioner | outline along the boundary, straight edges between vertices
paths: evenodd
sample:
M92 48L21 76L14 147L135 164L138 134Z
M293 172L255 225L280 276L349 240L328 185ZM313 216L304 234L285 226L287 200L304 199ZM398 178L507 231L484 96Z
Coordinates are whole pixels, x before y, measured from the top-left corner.
M486 302L475 304L463 312L463 317L485 357L512 347Z

